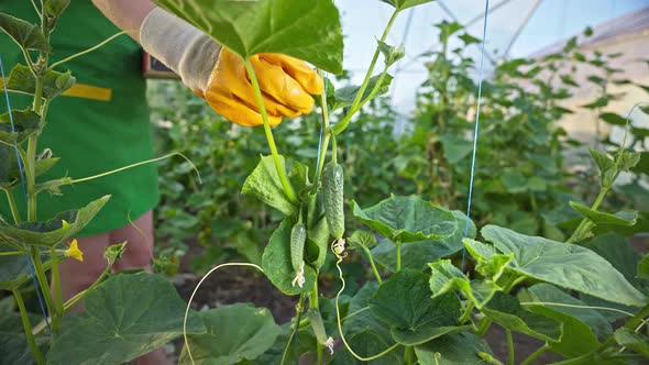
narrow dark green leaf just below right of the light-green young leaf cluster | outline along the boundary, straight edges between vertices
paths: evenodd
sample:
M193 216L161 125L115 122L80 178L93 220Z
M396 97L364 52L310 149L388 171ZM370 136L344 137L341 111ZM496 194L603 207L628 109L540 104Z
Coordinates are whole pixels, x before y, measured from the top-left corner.
M518 299L496 292L482 312L502 327L543 341L558 341L561 322L532 313L520 307Z

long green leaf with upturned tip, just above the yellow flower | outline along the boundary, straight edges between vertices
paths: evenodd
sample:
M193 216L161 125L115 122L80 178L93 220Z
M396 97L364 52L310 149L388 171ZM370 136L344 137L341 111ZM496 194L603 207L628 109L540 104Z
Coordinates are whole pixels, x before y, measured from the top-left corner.
M54 246L81 231L110 196L105 196L85 208L58 213L45 222L24 222L18 226L0 221L0 243L21 243L28 245Z

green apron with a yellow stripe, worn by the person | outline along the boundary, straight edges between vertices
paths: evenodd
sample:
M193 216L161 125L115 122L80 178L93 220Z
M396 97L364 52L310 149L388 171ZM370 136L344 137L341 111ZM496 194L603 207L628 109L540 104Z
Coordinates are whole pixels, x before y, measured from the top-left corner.
M29 0L2 1L0 11L37 23ZM74 0L52 33L54 53L51 63L87 49L119 31L90 0ZM0 32L0 53L7 74L16 63L25 64L18 46L3 32ZM52 170L40 176L38 181L64 176L82 178L153 157L141 58L138 43L122 35L57 69L72 69L77 85L50 106L47 125L38 140L37 152L50 147L54 156L62 159ZM11 93L10 99L14 110L24 109L32 101L18 93ZM4 101L0 103L0 111L7 111ZM105 195L112 196L79 236L124 226L153 209L160 199L157 169L151 164L66 186L62 191L63 196L38 195L38 220L85 207ZM25 219L23 189L14 189L14 196ZM0 214L8 222L12 221L4 195L0 196Z

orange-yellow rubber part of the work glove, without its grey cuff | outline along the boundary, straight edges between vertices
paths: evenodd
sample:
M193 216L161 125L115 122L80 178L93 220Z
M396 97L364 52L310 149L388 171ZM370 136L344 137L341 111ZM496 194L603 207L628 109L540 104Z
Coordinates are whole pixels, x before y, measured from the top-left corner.
M299 59L279 54L258 54L250 62L271 125L279 124L282 117L311 112L315 103L311 95L323 91L322 79L316 71ZM243 59L228 48L221 49L201 97L231 122L245 126L264 123Z

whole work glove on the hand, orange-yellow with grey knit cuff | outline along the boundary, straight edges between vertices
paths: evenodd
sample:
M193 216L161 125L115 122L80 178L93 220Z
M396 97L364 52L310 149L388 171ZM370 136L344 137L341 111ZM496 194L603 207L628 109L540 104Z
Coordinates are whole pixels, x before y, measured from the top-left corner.
M245 65L238 55L221 49L208 35L160 8L144 19L140 42L223 118L245 126L263 124ZM280 123L282 117L314 109L310 95L322 93L322 79L304 62L279 54L260 54L250 60L271 125Z

